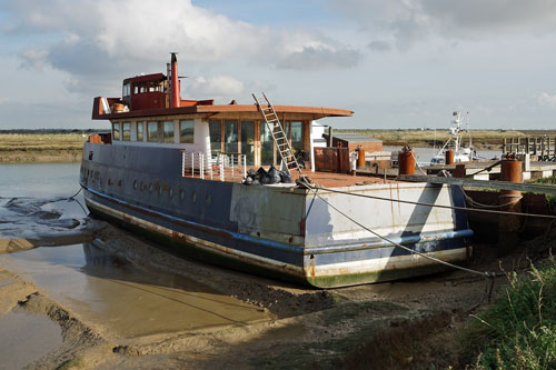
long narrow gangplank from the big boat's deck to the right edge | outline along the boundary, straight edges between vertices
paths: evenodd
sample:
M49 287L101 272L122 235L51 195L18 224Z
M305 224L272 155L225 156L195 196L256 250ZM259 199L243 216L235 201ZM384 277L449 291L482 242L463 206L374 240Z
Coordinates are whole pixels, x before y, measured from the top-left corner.
M401 174L398 177L401 181L410 182L429 182L429 183L446 183L446 184L457 184L461 187L474 187L474 188L485 188L485 189L500 189L500 190L519 190L527 192L536 192L544 194L556 194L556 186L546 186L537 183L518 183L508 181L486 181L486 180L473 180L463 178L441 178L434 176L418 176L418 174Z

